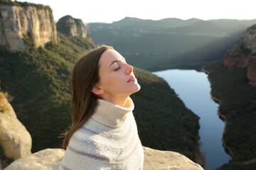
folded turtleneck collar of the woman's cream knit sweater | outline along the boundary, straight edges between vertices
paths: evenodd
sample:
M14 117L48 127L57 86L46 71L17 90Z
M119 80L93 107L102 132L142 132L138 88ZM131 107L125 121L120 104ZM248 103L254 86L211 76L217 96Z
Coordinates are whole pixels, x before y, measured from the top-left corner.
M127 117L127 113L134 110L134 103L132 98L127 98L125 106L117 106L109 101L102 99L97 100L97 107L95 113L92 115L92 119L97 122L107 125L112 128L117 128L124 122Z

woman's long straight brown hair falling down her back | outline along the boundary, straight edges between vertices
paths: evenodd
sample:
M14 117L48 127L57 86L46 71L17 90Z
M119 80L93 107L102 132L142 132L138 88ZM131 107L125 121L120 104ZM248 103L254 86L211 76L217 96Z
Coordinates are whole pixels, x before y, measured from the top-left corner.
M68 142L73 134L89 120L95 111L98 97L92 93L92 88L100 80L99 61L102 53L106 50L114 49L113 47L102 45L81 57L73 68L71 77L73 98L71 105L72 125L70 130L63 134L64 149L67 149Z

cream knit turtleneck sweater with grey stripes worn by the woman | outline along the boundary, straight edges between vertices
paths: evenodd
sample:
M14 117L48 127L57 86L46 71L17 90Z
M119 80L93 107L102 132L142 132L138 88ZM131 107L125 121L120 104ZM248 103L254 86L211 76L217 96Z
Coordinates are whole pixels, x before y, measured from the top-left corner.
M99 99L92 118L71 137L59 169L142 169L133 109L131 98L125 107Z

